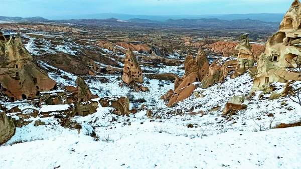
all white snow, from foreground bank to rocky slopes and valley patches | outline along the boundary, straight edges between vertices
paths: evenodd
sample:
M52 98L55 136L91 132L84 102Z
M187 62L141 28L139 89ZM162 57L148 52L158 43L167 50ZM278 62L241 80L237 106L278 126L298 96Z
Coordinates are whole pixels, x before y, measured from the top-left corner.
M32 54L39 54L35 53L40 50L33 43L35 38L27 38L27 49ZM77 44L67 39L62 43L62 48L53 46L49 50L76 54L72 47ZM70 48L63 47L65 45ZM41 49L46 51L46 48ZM102 52L120 56L107 50ZM39 64L60 86L75 86L75 75L42 61ZM177 66L141 68L156 73L184 74ZM102 83L101 78L108 82ZM11 140L0 146L0 168L301 168L298 161L301 127L268 127L263 129L266 131L259 131L260 126L300 121L300 105L286 97L268 100L270 94L261 92L249 95L253 82L248 73L235 79L226 77L223 83L207 89L197 87L196 91L203 97L192 95L171 108L166 107L167 103L160 97L174 89L174 83L144 78L143 86L150 91L133 92L128 85L119 86L120 78L120 75L104 74L84 77L93 94L100 97L128 95L130 108L145 104L152 109L153 117L146 116L146 109L129 117L117 116L110 113L111 108L100 105L92 115L71 118L81 125L81 129L64 128L54 117L30 117L27 120L33 122L17 128ZM272 85L274 92L283 91L281 86L284 84ZM295 82L293 87L301 87L301 83ZM225 104L235 95L246 97L243 104L247 108L231 118L223 117ZM259 98L260 95L263 97ZM139 99L145 99L145 102L135 103ZM1 104L9 109L19 106L21 111L37 110L28 101ZM66 109L64 106L44 107L50 108L54 111ZM8 115L18 119L17 113ZM34 126L36 120L45 125ZM92 131L95 138L90 136Z

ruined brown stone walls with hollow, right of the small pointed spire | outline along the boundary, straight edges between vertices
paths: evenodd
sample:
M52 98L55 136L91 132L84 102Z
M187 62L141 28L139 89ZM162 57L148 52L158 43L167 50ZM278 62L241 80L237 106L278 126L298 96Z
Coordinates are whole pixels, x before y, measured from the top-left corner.
M102 107L115 108L114 114L129 116L129 99L128 97L103 97L99 100Z

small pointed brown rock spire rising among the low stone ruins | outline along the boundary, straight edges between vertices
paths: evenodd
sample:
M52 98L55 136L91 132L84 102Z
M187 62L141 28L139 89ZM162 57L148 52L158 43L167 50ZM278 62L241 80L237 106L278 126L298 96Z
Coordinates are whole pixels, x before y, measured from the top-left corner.
M85 101L91 100L92 93L91 93L88 85L84 81L84 79L82 79L81 77L77 77L75 83L76 83L76 87L78 89L78 93L77 93L78 101L85 102Z

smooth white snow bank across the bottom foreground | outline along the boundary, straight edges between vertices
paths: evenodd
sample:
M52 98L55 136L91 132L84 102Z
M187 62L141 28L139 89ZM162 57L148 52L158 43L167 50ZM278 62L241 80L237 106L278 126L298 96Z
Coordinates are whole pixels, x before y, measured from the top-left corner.
M143 131L113 141L62 132L2 146L0 161L1 167L12 169L20 164L22 168L300 168L300 139L301 127L227 132L203 139Z

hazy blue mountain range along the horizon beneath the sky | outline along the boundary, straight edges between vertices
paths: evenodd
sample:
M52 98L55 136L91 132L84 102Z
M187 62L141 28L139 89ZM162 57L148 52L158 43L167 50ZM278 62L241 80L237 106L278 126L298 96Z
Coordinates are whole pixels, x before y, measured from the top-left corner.
M70 20L70 19L107 19L117 18L119 20L131 20L131 19L145 19L150 21L166 21L168 19L179 20L179 19L213 19L217 18L220 20L259 20L263 22L278 22L280 23L283 19L284 14L228 14L228 15L167 15L167 16L151 16L151 15L128 15L118 13L104 13L104 14L93 14L93 15L82 15L82 16L61 16L61 17L48 17L53 20Z

